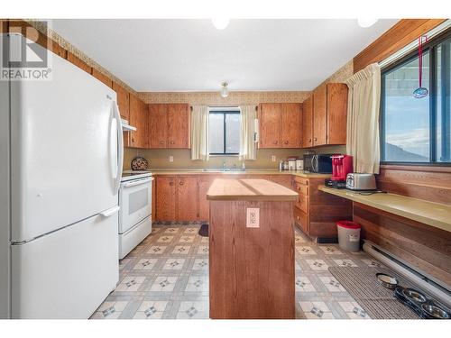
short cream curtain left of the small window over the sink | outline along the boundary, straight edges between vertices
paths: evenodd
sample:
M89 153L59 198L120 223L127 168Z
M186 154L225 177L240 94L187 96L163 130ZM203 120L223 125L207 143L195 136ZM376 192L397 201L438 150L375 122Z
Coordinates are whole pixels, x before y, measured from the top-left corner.
M191 160L208 160L208 107L195 105L191 112Z

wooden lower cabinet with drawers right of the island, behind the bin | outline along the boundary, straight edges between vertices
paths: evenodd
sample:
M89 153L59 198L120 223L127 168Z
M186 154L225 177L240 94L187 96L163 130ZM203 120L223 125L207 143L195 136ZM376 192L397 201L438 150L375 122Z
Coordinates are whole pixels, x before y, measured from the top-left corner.
M293 179L293 189L299 193L294 207L294 222L299 229L317 241L335 238L336 221L352 220L351 201L323 193L318 186L324 185L324 178Z

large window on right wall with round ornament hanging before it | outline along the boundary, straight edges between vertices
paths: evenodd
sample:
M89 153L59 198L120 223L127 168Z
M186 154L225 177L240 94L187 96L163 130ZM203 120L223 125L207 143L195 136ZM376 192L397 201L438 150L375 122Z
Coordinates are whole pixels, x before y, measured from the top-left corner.
M451 33L432 41L423 53L422 87L429 95L414 98L419 87L418 54L382 71L382 162L451 162Z

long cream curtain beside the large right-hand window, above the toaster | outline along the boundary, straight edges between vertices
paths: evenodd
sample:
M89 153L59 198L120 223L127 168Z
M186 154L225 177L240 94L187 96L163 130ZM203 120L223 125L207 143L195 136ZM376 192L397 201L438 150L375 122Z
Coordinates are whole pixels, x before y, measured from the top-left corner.
M354 172L379 173L379 108L381 69L369 65L346 81L349 87L347 107L346 153L354 157Z

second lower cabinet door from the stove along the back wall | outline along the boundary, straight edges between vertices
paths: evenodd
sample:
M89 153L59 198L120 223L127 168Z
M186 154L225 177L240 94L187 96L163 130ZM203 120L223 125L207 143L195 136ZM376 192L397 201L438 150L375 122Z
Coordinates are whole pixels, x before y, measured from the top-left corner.
M198 178L179 176L177 178L177 220L198 219Z

